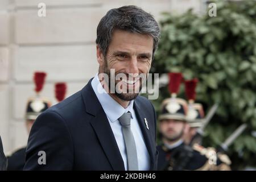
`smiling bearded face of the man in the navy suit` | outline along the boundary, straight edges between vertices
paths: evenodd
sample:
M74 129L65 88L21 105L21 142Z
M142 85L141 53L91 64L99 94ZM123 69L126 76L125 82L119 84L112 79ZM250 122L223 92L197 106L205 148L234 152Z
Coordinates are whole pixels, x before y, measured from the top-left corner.
M114 94L121 100L130 101L138 96L142 85L139 75L142 73L146 76L150 71L153 43L151 36L114 30L106 56L97 47L100 73L106 73L110 78L110 69L114 69L115 75L123 73L127 78L111 80L115 82ZM116 87L117 84L122 86Z

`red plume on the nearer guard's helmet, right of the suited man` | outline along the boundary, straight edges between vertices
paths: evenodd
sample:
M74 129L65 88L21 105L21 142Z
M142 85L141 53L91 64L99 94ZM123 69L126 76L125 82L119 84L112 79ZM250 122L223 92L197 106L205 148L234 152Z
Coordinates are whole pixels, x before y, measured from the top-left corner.
M181 73L169 73L169 91L170 93L178 93L180 89L180 82L182 80Z

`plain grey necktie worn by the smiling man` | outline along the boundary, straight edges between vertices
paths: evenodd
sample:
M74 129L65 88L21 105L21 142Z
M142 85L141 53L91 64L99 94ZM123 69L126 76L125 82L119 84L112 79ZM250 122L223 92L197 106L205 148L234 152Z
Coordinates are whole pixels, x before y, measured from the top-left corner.
M123 138L125 139L128 170L138 171L136 144L131 132L131 113L123 113L118 120L122 125Z

